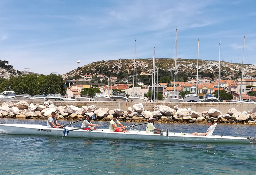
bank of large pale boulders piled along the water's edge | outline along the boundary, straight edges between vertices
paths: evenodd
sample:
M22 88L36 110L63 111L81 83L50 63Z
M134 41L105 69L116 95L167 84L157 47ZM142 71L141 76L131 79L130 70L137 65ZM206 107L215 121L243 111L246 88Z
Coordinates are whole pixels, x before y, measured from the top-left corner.
M245 123L256 124L256 107L248 112L238 112L235 108L229 109L226 114L219 110L211 108L202 113L195 112L191 108L174 109L165 105L156 105L153 111L146 111L142 103L128 107L126 111L121 109L109 110L108 108L97 108L96 105L82 106L81 108L67 105L54 106L53 102L48 100L43 105L28 104L26 101L12 103L8 101L0 107L0 118L19 118L19 119L48 119L52 112L56 112L57 120L78 120L84 118L84 115L96 114L95 120L110 121L113 114L119 116L119 120L128 122L148 122L149 117L157 119L157 122L163 123L204 123L209 118L213 118L218 123Z

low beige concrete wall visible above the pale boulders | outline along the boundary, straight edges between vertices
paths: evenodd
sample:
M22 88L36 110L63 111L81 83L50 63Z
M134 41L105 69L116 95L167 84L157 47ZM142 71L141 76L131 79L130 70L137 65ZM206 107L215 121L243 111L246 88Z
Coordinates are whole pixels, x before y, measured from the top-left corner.
M0 105L2 106L3 102L7 101L0 101ZM17 101L11 101L12 103L15 103ZM43 105L43 101L27 101L29 104L33 103L34 105L40 104ZM100 102L100 101L88 101L88 102L83 102L83 101L53 101L53 104L55 106L66 106L66 105L74 105L77 107L82 107L82 106L91 106L95 104L97 108L108 108L109 110L114 110L114 109L121 109L123 111L126 111L128 107L132 107L134 104L137 104L139 102L115 102L115 101L110 101L110 102ZM198 103L185 103L185 102L180 102L180 103L175 103L175 102L140 102L143 104L144 110L147 111L153 111L153 107L155 105L166 105L169 106L170 108L173 109L175 105L179 105L180 108L191 108L193 111L200 112L202 113L203 111L208 111L211 108L215 108L219 111L222 112L222 114L225 114L227 110L231 108L235 108L237 111L240 111L241 113L243 111L250 111L252 108L256 107L256 103L232 103L232 102L220 102L220 103L203 103L203 102L198 102Z

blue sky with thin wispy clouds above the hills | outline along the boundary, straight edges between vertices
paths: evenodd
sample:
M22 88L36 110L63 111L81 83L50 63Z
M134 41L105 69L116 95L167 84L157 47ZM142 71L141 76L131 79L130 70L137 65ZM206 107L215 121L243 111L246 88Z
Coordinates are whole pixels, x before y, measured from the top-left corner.
M0 0L0 59L64 74L102 60L175 57L256 64L254 0Z

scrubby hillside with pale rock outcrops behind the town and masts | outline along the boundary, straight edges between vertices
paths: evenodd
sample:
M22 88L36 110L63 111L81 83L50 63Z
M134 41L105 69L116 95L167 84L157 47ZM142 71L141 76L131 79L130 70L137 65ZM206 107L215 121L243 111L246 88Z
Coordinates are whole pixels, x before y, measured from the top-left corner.
M153 59L137 59L135 67L138 73L147 72L150 73L152 69ZM174 71L174 59L155 59L155 65L164 71ZM107 73L108 71L123 71L130 74L133 71L134 60L111 60L111 61L97 61L84 65L78 68L78 75L90 74L98 75ZM197 72L197 60L187 60L187 59L178 59L178 71L186 73L196 73ZM216 76L219 74L219 61L206 61L199 60L199 71L213 73ZM239 74L242 71L242 64L239 63L229 63L221 61L221 72L226 73L227 75ZM244 64L244 75L256 75L256 65ZM69 77L76 76L76 69L72 70L63 75L64 79Z

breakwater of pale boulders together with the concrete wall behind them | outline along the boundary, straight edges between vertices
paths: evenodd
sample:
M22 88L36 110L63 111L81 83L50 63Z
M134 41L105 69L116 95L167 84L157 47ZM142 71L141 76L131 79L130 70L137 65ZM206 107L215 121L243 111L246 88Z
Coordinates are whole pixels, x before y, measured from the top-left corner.
M62 102L0 101L0 118L43 119L56 112L57 120L79 120L96 114L98 121L110 121L114 113L122 122L256 124L256 104L242 103L163 103L163 102ZM107 107L109 108L107 108ZM103 108L102 108L103 107ZM187 108L185 108L187 107ZM235 108L236 107L236 108ZM237 110L243 109L243 111ZM199 112L201 111L201 112Z

